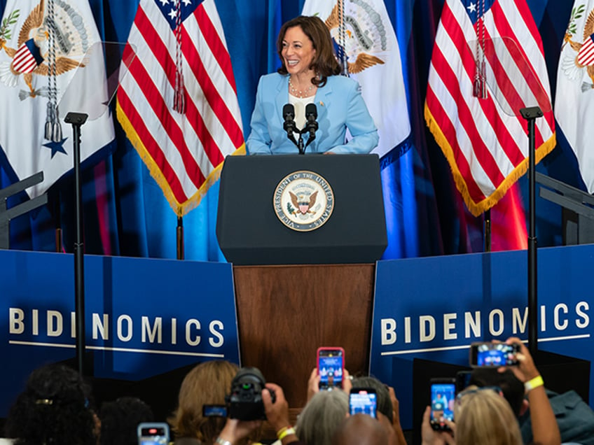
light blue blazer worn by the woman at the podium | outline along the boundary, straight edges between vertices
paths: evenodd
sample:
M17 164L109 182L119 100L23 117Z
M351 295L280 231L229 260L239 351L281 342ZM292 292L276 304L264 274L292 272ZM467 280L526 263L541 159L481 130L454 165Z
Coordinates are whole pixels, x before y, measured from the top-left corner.
M369 153L378 145L378 130L360 90L356 80L344 76L330 76L326 85L317 89L314 104L319 128L305 153ZM283 129L282 108L288 103L288 75L272 73L260 78L247 138L249 154L298 153ZM352 139L345 143L347 128ZM303 135L305 142L308 136Z

